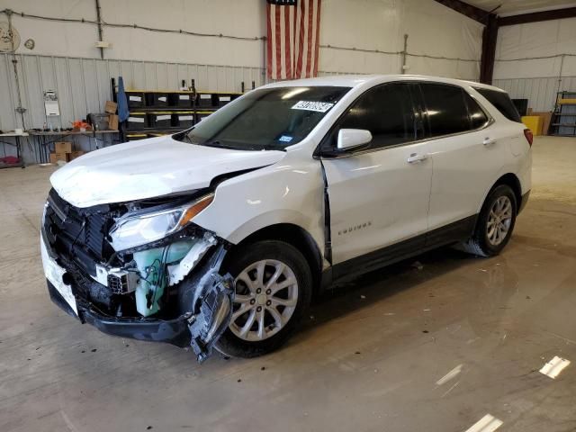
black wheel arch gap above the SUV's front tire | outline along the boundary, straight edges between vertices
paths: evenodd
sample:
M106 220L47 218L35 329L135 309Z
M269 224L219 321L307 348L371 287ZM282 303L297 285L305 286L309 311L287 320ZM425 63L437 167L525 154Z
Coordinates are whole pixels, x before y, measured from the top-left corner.
M243 238L238 244L234 245L232 249L246 247L250 243L256 243L261 240L279 240L296 247L311 267L313 291L318 291L322 274L322 255L318 244L306 229L293 223L268 225Z

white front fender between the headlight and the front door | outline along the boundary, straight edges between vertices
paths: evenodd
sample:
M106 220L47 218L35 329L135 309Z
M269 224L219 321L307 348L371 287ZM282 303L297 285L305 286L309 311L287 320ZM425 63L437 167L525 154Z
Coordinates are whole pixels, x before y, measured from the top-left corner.
M213 202L193 222L232 244L259 229L290 223L307 231L323 250L321 166L299 153L289 153L273 166L219 184Z

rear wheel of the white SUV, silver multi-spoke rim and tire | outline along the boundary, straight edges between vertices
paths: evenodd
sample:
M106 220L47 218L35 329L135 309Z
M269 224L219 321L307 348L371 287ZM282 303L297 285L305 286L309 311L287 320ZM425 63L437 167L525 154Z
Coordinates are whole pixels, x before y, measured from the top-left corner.
M517 212L512 188L508 184L496 186L482 206L472 238L462 245L464 250L481 257L500 254L512 235Z

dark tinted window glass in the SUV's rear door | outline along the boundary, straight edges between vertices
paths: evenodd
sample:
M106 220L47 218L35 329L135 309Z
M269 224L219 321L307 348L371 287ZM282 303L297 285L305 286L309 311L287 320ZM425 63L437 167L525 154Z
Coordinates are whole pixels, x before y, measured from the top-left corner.
M426 102L431 137L473 129L462 88L442 84L421 84L420 86Z

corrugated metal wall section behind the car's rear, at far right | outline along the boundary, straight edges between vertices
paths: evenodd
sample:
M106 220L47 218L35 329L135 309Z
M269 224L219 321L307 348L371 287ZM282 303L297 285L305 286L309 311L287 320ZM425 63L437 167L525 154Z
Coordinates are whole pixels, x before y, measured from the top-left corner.
M527 99L534 111L553 111L557 92L576 91L576 76L495 79L493 84L514 99Z

